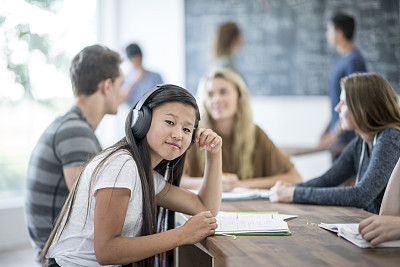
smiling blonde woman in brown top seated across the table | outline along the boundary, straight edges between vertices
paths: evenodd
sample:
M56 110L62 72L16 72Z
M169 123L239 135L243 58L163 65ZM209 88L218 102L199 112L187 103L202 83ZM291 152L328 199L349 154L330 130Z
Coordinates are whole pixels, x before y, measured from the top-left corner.
M300 182L294 165L260 127L254 124L250 95L243 79L229 69L204 77L197 90L201 126L223 139L223 190L270 188L278 180ZM181 186L198 189L204 172L204 153L188 151Z

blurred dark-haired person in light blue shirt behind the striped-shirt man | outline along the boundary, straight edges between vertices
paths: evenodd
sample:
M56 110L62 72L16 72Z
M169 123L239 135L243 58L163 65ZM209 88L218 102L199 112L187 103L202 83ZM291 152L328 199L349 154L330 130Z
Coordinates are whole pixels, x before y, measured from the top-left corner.
M126 47L126 56L132 63L133 70L125 76L123 101L128 103L129 108L132 108L144 93L163 82L160 74L143 68L142 50L137 44L130 44Z

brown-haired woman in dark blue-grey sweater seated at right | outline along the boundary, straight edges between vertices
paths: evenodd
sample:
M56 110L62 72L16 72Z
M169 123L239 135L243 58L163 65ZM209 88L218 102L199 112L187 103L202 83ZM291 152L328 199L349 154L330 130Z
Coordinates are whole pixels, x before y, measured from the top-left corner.
M354 206L379 213L390 174L400 157L400 108L389 82L376 73L342 78L339 113L355 137L321 177L302 184L278 182L271 201ZM356 176L355 186L337 187Z

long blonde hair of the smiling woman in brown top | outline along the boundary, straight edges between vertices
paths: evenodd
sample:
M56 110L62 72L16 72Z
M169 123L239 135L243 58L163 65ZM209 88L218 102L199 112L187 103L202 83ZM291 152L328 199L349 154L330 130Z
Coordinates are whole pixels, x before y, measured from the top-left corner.
M247 86L236 72L223 68L213 70L211 73L203 77L197 89L197 102L200 109L200 126L204 128L215 129L215 121L210 116L206 100L208 98L207 82L210 80L222 78L236 88L238 92L238 107L236 112L236 123L233 129L233 147L231 155L233 157L232 164L238 166L238 176L240 179L248 179L253 177L253 152L255 149L255 125L251 115L250 94ZM196 150L197 158L200 160L199 166L204 166L204 153Z

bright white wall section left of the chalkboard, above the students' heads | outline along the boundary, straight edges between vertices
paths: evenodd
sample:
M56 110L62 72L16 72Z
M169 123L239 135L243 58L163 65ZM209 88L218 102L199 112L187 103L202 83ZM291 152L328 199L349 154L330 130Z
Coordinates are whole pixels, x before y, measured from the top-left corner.
M143 65L164 82L184 84L184 0L98 0L99 42L126 59L125 47L136 42ZM129 66L123 63L123 68Z

